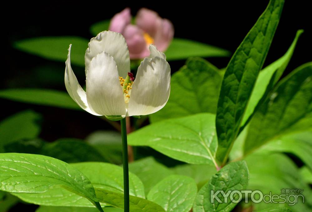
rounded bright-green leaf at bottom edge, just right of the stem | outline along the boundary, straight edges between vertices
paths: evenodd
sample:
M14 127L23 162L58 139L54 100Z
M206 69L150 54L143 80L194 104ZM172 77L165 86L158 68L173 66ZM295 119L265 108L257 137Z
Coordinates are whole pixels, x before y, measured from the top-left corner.
M171 175L157 183L147 199L162 206L165 211L188 212L197 193L195 181L187 176Z

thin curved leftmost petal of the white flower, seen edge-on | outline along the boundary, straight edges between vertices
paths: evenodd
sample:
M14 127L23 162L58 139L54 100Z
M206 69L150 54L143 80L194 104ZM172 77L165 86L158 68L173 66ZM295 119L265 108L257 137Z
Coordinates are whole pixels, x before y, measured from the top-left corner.
M99 114L90 110L85 91L81 88L73 70L71 69L71 45L68 49L68 55L65 64L65 87L68 94L82 109L93 115L100 116Z

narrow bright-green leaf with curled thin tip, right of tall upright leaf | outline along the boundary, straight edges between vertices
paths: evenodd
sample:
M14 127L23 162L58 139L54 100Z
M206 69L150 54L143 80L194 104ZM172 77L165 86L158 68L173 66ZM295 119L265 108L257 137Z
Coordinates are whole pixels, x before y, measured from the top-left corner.
M268 92L276 84L277 80L280 79L280 77L282 76L285 68L287 67L290 61L291 56L294 53L298 38L302 33L303 30L298 30L294 41L290 45L285 55L283 55L280 59L276 60L275 62L265 67L259 73L255 87L252 90L250 99L248 101L246 112L241 122L241 127L243 127L247 123L248 118L251 117L256 106L261 104L261 99L266 99ZM272 79L273 83L270 83Z

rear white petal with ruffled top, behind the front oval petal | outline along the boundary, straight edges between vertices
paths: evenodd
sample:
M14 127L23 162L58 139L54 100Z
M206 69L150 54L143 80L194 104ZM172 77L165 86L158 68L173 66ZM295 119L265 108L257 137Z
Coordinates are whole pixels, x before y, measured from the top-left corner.
M85 75L95 55L105 51L112 56L116 62L119 76L126 77L130 72L130 58L127 43L120 33L112 31L100 32L96 37L90 40L88 48L85 51Z

